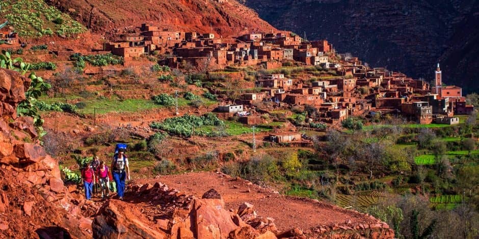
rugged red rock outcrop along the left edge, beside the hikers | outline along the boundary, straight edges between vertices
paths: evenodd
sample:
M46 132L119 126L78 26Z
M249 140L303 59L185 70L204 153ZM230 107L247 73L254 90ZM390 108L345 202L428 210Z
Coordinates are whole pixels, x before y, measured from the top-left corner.
M0 237L89 238L95 213L63 184L58 162L35 139L31 117L18 117L30 80L0 69Z

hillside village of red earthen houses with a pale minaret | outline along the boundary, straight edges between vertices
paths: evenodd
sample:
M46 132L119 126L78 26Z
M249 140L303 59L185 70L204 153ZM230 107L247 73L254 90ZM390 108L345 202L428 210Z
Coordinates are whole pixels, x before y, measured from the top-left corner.
M103 49L91 54L112 53L125 63L150 55L165 55L159 65L172 69L184 66L202 72L228 66L257 66L278 69L291 63L327 70L333 76L289 78L282 73L264 74L255 80L257 93L243 93L239 99L224 99L217 112L240 116L247 125L261 123L255 103L271 102L273 109L302 107L309 112L306 123L338 126L350 116L375 114L403 115L417 124L458 124L455 114L469 114L474 106L466 104L462 89L442 83L437 65L433 85L422 79L384 67L369 68L358 57L336 53L327 40L306 41L290 32L254 33L224 39L214 33L176 32L142 24L140 33L121 34L105 42ZM5 32L2 47L19 46L15 33ZM75 52L53 51L57 60L67 60ZM301 139L298 133L282 133L286 141ZM278 135L272 135L278 140ZM283 137L279 137L279 142ZM287 139L286 139L287 138Z

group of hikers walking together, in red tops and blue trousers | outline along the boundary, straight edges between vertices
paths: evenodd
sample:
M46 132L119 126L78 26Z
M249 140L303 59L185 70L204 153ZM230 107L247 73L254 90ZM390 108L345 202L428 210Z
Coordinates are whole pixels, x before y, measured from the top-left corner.
M91 200L92 194L99 192L102 199L108 198L110 191L116 191L118 199L123 200L125 181L130 179L128 157L125 151L126 144L117 144L110 167L105 161L100 162L98 156L85 165L82 169L82 184L85 187L87 200Z

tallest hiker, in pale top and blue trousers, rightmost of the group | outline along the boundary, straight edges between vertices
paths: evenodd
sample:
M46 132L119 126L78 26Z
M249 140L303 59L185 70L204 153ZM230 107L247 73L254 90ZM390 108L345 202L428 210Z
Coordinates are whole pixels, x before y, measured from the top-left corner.
M116 183L118 197L123 200L123 191L125 190L125 180L130 179L130 170L128 167L128 158L125 155L125 147L118 148L118 154L115 154L112 161L112 174Z

